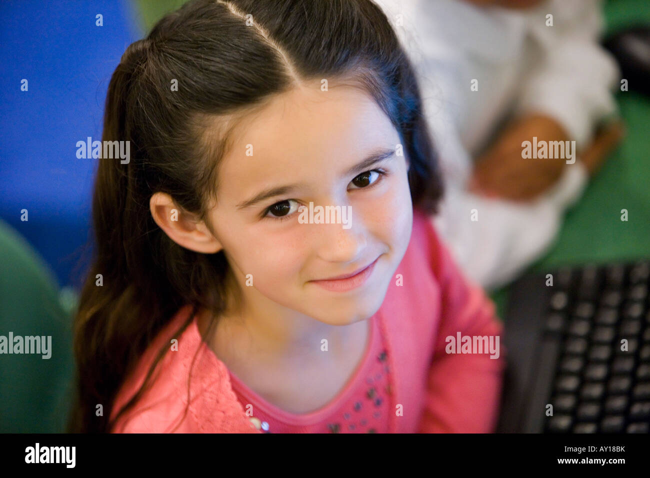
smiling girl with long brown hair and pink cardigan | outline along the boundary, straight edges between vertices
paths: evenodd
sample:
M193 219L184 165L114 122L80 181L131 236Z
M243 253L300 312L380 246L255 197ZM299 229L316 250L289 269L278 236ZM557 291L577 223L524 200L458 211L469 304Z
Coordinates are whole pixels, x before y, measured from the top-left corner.
M131 157L99 161L71 431L493 431L500 322L428 220L372 1L190 1L125 51L103 140Z

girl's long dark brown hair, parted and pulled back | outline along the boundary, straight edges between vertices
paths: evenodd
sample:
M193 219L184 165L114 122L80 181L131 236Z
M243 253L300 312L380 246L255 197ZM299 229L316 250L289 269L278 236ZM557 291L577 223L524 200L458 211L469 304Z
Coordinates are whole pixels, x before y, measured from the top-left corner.
M102 140L129 141L131 157L99 159L95 257L75 317L77 396L68 431L110 431L123 380L181 306L192 313L177 333L198 310L210 311L213 325L224 310L223 252L174 243L151 217L151 195L170 194L205 220L231 120L298 81L322 78L372 95L409 157L413 206L434 213L442 183L415 73L372 1L192 0L126 49L110 79ZM214 118L222 127L207 137ZM135 405L167 350L115 419Z

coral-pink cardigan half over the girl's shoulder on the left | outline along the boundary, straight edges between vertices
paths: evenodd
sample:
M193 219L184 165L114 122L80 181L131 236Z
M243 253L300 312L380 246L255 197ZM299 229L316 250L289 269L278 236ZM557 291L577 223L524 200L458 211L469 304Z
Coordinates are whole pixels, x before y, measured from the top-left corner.
M155 357L166 347L147 390L112 432L257 432L237 401L226 365L201 340L196 317L179 332L190 312L190 306L177 312L123 382L111 419L142 386Z

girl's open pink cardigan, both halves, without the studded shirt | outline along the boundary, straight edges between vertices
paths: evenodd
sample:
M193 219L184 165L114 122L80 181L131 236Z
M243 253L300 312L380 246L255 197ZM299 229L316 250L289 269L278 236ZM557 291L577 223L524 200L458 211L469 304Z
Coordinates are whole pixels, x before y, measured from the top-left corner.
M397 274L402 274L402 285L397 280L389 285L376 314L394 384L391 410L401 410L389 414L389 432L494 431L505 366L502 337L499 358L445 349L450 348L448 336L500 336L502 325L492 302L461 274L430 219L417 209ZM179 310L122 384L111 419L138 390L163 343L170 347L153 385L112 432L261 432L237 400L226 365L201 342L196 317L174 335L189 312L190 306Z

